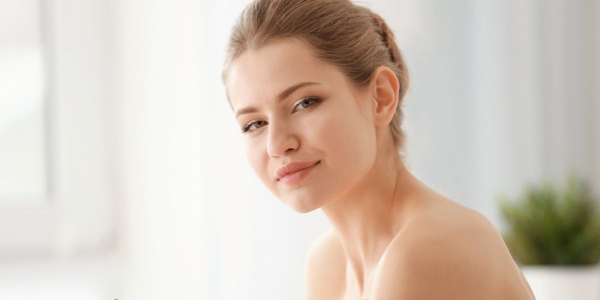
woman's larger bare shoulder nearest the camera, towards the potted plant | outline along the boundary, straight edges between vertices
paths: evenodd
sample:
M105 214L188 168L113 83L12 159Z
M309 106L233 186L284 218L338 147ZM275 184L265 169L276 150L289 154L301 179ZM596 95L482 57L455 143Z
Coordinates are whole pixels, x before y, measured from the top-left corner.
M380 260L374 299L532 299L502 236L455 202L412 218Z

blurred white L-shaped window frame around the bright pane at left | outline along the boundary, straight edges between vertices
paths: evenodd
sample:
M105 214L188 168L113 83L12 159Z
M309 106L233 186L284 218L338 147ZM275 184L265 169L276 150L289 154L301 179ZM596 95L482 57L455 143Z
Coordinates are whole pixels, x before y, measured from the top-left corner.
M0 259L71 256L116 241L112 10L101 0L40 0L40 8L47 190L35 204L0 205Z

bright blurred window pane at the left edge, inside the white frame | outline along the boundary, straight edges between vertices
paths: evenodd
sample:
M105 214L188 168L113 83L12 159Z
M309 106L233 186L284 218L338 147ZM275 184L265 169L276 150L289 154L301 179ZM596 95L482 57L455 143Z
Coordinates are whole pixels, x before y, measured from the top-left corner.
M47 191L46 65L38 0L0 1L0 207Z

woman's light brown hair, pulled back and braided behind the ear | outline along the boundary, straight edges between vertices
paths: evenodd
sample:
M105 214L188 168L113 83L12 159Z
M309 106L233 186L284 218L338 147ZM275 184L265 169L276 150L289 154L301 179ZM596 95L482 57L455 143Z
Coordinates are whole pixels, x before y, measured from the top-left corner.
M403 150L402 104L409 76L394 33L379 14L349 0L255 0L232 28L223 83L229 64L239 55L284 40L310 46L317 59L346 74L356 89L367 88L379 66L394 71L400 91L390 129L396 149Z

